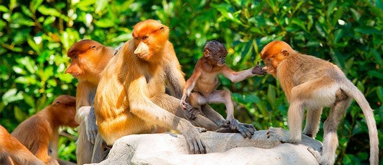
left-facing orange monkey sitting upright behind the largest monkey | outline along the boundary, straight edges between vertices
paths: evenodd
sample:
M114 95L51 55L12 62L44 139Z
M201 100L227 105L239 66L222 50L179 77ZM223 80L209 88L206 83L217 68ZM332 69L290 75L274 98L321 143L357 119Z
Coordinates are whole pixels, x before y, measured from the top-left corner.
M113 57L113 48L106 47L94 40L84 39L74 43L68 49L70 66L65 73L78 78L76 89L76 116L80 124L79 139L76 142L76 157L78 164L91 163L93 147L97 135L96 119L94 116L94 95L100 73Z

